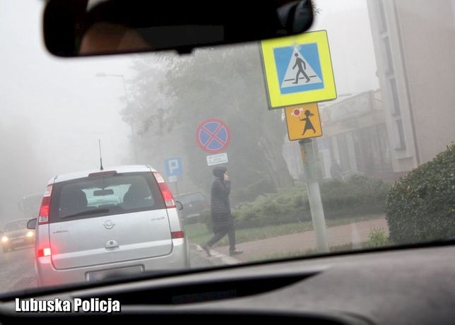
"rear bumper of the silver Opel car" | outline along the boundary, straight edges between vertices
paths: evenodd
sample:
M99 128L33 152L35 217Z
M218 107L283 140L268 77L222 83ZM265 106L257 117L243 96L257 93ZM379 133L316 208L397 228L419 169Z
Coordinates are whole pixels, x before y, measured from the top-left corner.
M118 276L119 274L131 276L135 273L140 274L142 272L162 272L189 268L189 247L187 240L172 240L172 244L172 252L165 256L65 270L54 268L50 256L40 257L35 264L38 285L52 286L68 283L83 283L92 280L102 280L105 276Z

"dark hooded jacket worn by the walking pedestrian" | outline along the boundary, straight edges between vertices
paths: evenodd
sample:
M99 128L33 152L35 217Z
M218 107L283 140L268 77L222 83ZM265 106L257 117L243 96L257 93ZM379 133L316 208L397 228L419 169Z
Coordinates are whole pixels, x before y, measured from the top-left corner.
M234 219L230 213L230 181L223 179L226 170L226 167L223 166L213 168L213 176L215 176L211 190L213 225L228 225Z

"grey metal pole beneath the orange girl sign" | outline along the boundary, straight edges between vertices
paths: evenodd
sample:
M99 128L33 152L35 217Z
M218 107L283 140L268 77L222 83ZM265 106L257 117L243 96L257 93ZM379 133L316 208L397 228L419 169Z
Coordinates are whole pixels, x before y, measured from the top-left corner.
M328 253L329 242L327 241L326 219L324 217L324 208L322 207L321 192L317 182L317 166L313 151L311 139L300 140L300 152L302 153L302 162L307 179L307 193L309 200L309 209L312 213L312 223L316 233L317 252Z

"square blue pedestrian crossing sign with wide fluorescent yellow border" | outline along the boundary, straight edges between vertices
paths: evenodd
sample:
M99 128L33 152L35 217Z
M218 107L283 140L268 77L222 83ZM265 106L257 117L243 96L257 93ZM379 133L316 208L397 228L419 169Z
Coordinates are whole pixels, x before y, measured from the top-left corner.
M336 99L325 30L261 42L271 108Z

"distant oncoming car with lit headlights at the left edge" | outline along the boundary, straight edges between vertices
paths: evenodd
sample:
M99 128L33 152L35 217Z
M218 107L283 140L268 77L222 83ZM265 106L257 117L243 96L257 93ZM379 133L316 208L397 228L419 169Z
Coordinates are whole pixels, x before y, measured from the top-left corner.
M6 223L1 234L3 252L35 243L35 230L27 229L27 221L28 219L19 219Z

